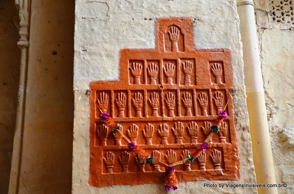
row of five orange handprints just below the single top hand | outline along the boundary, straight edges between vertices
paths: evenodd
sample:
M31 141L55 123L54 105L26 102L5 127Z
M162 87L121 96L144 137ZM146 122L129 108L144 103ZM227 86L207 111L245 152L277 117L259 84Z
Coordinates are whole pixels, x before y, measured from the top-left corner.
M184 74L184 85L191 85L191 76L193 76L193 63L190 61L186 61L182 63L183 66L183 74ZM134 79L134 84L141 84L141 76L142 76L143 65L141 63L132 62L129 67L129 71ZM156 63L150 63L146 67L147 74L149 77L150 84L158 84L158 72L159 67ZM163 72L166 75L166 84L175 84L173 83L173 77L175 76L176 65L173 63L166 63L163 65ZM211 72L215 77L215 83L221 84L221 76L222 76L222 65L220 63L213 63L211 65Z

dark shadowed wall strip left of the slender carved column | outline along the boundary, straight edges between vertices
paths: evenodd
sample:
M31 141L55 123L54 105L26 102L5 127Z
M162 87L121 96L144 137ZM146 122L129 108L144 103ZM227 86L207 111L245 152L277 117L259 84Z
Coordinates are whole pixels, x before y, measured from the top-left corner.
M0 193L7 193L19 84L19 34L14 1L0 1Z

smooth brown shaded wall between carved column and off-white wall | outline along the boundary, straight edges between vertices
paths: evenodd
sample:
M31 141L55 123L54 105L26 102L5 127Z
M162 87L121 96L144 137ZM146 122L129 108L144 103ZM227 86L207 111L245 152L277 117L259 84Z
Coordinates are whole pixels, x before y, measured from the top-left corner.
M74 1L32 1L19 193L70 193Z

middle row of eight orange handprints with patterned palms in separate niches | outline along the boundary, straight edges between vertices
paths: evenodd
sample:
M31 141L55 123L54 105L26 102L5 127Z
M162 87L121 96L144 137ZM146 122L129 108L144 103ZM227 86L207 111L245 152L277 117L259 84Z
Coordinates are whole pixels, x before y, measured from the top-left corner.
M157 117L158 116L158 108L160 107L159 101L159 93L153 92L150 94L148 102L151 108L151 116ZM216 104L216 112L219 113L223 108L224 96L221 92L216 91L213 94L213 101ZM175 95L172 92L168 92L165 95L164 101L168 107L167 116L173 117L175 116ZM185 92L183 93L181 100L183 102L185 108L185 116L192 116L192 96L190 93ZM197 101L201 106L201 116L207 116L207 108L208 108L208 96L206 93L201 92L197 96ZM117 94L116 99L116 106L118 110L117 117L122 118L125 117L125 108L127 102L126 93L120 92ZM101 92L98 95L97 105L101 109L102 112L106 112L108 108L108 95L105 92ZM132 98L132 105L135 108L135 117L142 117L142 108L143 108L143 95L141 92L136 92Z

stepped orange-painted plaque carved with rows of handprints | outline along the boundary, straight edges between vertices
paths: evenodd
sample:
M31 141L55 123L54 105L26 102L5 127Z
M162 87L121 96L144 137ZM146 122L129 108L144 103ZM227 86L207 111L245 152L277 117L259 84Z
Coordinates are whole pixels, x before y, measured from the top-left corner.
M155 49L122 49L119 81L91 83L97 105L90 100L90 186L162 184L164 177L163 167L146 163L111 133L97 106L132 142L172 164L204 142L228 102L206 152L175 173L179 182L239 179L230 51L195 50L192 22L157 19Z

